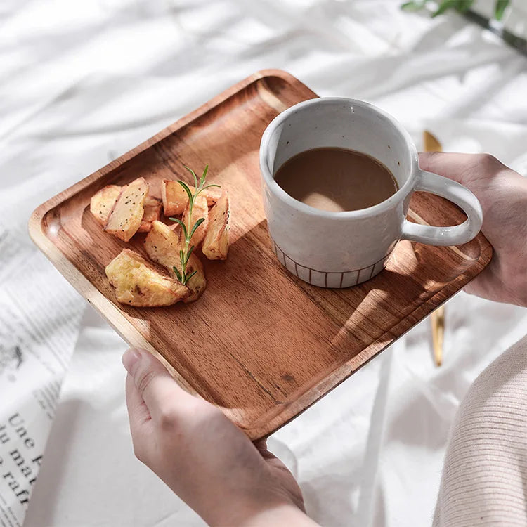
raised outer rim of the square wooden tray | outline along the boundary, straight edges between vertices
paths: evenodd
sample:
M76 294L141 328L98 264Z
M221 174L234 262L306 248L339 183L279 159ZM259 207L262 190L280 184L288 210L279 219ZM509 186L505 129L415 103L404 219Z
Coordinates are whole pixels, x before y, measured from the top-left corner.
M155 143L158 143L164 138L167 138L167 136L169 136L170 134L174 134L174 132L176 132L178 129L181 129L183 126L186 126L186 124L189 124L193 120L197 119L197 117L204 115L204 113L208 112L215 106L221 105L221 103L225 102L228 98L233 96L238 91L242 91L243 89L247 88L247 86L249 86L250 84L253 84L259 79L265 79L266 77L282 78L283 80L285 80L285 82L287 82L287 84L289 84L289 86L301 87L301 89L303 89L304 91L311 92L313 98L318 97L315 92L308 88L308 86L306 86L304 83L299 81L299 79L294 77L292 74L285 72L284 70L259 70L258 72L249 75L249 77L242 79L240 82L234 84L233 86L230 86L230 88L219 93L219 95L214 96L212 99L207 101L207 103L204 103L196 110L193 110L192 112L188 113L187 115L184 115L180 119L177 119L176 122L174 122L173 124L169 124L169 126L166 126L154 136L143 141L143 143L140 143L128 152L125 152L123 155L120 155L115 160L112 160L111 162L106 164L104 167L94 171L89 176L82 178L80 181L77 181L77 183L74 183L72 186L51 197L49 200L46 200L46 202L34 209L34 212L32 212L28 222L28 231L30 234L30 238L33 240L34 244L37 245L41 252L44 253L46 258L48 258L48 260L53 263L53 266L57 268L60 274L63 275L64 278L66 278L66 280L70 282L70 284L75 289L77 289L77 292L79 292L79 294L81 294L82 297L84 297L84 299L89 302L89 304L93 305L93 307L96 308L98 313L110 324L110 326L117 332L117 334L119 334L122 339L124 339L124 341L129 344L129 346L138 347L150 351L150 353L152 353L158 360L163 363L165 367L167 367L167 370L169 370L172 377L176 379L176 382L178 382L180 386L186 389L186 391L192 393L195 396L200 395L192 388L192 386L190 386L190 384L188 384L186 379L176 370L176 368L172 366L161 355L161 353L159 353L157 349L155 349L155 347L152 346L152 344L150 344L148 340L141 335L141 333L124 316L124 314L119 310L119 308L112 301L110 301L110 299L105 297L105 295L100 292L88 280L88 278L86 278L82 274L79 268L77 268L74 263L72 263L72 261L68 259L67 254L61 252L60 249L58 249L58 247L56 247L56 245L51 241L51 239L48 238L48 235L46 235L44 231L44 219L48 212L50 212L52 209L54 209L73 195L79 193L87 186L91 185L91 183L98 180L98 178L105 176L110 171L116 169L123 163L131 160L133 157L136 157L136 155L139 155L141 154L141 152L152 147L152 145L155 145ZM493 254L492 246L481 232L476 235L475 239L479 241L481 252L479 255L479 259L474 262L474 265L471 266L469 270L474 270L474 268L478 264L479 266L481 266L481 268L479 268L479 270L477 270L477 272L474 273L474 275L469 278L469 280L467 280L467 283L470 280L473 280L476 275L481 273L481 271L486 268ZM441 304L453 297L454 294L456 294L460 290L460 287L457 285L457 282L461 280L461 277L463 277L465 274L466 272L461 273L460 275L457 275L455 280L447 282L443 287L441 287L441 289L438 289L438 291L433 296L427 299L427 301L424 301L419 304L415 308L415 310L412 311L412 313L409 313L407 315L406 318L415 315L415 313L419 311L424 313L421 316L421 318L424 318L424 316L428 315L436 308L441 306ZM438 299L439 301L437 302ZM398 324L404 323L404 320L405 319L401 319ZM263 423L261 422L261 419L258 419L256 420L256 422L254 422L254 427L242 428L245 431L245 434L247 434L247 436L249 436L249 438L251 438L252 440L256 440L273 434L276 430L278 430L279 428L290 422L292 419L300 415L302 412L304 412L307 408L317 402L320 398L327 395L327 393L330 393L330 391L332 391L339 384L341 384L341 382L344 382L344 380L350 377L353 372L356 372L358 369L360 369L360 367L363 367L363 365L365 365L372 358L377 356L378 353L386 349L386 347L391 346L393 342L403 337L403 335L408 332L408 330L410 330L414 325L414 323L410 323L409 327L403 330L403 332L401 332L401 334L396 337L392 333L392 330L394 327L396 327L396 325L391 327L389 330L386 330L386 332L384 332L382 336L380 336L378 339L375 339L375 341L373 341L369 346L366 346L356 356L349 360L346 360L345 363L341 364L339 367L333 370L330 375L327 375L325 379L318 382L310 389L302 393L299 398L294 399L294 401L288 403L283 410L273 415L271 419L267 419ZM389 340L388 344L386 344L386 339ZM223 410L227 410L226 413L228 413L228 409Z

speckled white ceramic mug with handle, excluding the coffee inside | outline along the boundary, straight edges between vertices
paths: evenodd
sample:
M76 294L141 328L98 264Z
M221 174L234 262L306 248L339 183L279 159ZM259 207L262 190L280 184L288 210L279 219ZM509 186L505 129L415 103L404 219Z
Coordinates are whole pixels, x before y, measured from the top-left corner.
M375 157L396 178L397 192L367 209L328 212L295 200L276 183L276 171L290 157L328 146ZM460 245L481 228L476 196L419 169L417 150L403 126L360 100L317 98L280 113L261 138L260 169L273 250L288 271L312 285L342 288L373 278L398 240ZM405 217L414 190L445 197L464 210L467 220L453 227L410 223Z

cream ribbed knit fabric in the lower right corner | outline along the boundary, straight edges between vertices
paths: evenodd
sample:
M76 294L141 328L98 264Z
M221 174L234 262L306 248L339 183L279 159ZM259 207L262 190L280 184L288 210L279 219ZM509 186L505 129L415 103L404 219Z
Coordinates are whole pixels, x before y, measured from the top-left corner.
M455 418L434 527L527 526L527 335L479 375Z

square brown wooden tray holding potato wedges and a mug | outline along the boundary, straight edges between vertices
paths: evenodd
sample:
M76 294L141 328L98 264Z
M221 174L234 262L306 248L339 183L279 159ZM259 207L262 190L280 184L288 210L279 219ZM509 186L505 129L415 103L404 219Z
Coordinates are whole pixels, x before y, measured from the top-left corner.
M236 84L157 136L38 207L30 235L72 285L131 346L162 358L189 391L212 401L250 438L267 436L317 401L486 266L483 235L462 247L400 242L386 271L350 289L319 289L278 264L260 195L261 134L278 112L316 97L297 79L266 70ZM194 304L129 308L115 301L105 266L124 243L103 233L91 195L109 183L185 178L182 165L230 190L226 262L205 261L208 287ZM460 223L433 195L412 198L412 221ZM143 252L144 235L131 247Z

